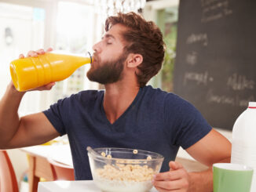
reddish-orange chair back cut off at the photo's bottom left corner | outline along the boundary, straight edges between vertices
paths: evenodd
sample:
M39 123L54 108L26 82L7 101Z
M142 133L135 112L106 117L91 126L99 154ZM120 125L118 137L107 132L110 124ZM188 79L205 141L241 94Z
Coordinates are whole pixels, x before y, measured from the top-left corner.
M19 192L12 162L6 150L0 150L0 192Z

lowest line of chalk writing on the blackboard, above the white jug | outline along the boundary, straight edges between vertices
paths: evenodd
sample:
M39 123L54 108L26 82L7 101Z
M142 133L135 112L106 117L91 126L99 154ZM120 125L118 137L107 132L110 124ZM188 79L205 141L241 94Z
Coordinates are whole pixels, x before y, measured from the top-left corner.
M247 107L250 101L254 101L253 95L247 98L240 98L240 96L225 96L215 94L212 89L207 92L207 103L229 104L237 107Z

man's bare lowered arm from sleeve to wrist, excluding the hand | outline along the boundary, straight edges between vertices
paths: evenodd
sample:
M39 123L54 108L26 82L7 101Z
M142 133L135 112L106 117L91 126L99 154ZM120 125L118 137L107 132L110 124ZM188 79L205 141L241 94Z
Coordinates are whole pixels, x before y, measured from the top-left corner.
M188 147L187 152L197 161L209 166L204 172L188 173L190 177L188 191L212 191L212 165L218 162L230 162L231 143L219 132L212 129L207 136L192 145L192 147Z

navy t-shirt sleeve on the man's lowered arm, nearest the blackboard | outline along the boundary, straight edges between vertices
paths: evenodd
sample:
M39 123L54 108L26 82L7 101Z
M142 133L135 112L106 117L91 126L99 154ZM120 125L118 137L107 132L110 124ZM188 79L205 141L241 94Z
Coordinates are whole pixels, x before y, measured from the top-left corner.
M212 128L191 103L174 94L169 97L165 103L166 128L170 129L172 143L187 149L206 136Z

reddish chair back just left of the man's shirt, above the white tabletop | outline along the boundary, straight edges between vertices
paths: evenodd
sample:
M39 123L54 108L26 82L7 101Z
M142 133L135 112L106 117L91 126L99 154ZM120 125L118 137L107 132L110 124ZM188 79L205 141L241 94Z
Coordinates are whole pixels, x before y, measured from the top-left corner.
M48 158L55 180L75 180L74 168Z

